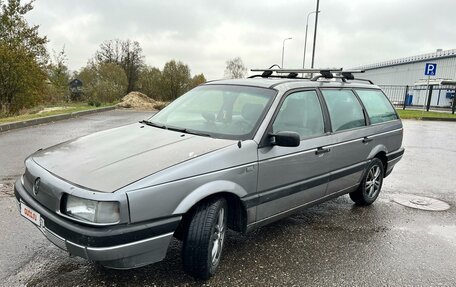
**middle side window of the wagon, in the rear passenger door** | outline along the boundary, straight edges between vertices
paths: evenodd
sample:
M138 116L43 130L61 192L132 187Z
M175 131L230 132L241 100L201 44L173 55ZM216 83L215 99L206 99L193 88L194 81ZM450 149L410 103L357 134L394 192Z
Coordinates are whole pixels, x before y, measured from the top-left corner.
M364 113L350 90L322 90L334 132L365 126Z

